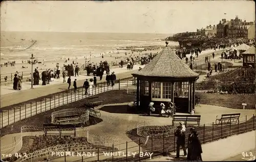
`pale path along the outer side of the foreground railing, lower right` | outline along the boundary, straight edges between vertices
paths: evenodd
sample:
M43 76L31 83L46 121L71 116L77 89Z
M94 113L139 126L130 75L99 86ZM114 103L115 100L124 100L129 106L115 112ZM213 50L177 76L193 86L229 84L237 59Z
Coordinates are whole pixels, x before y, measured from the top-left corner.
M203 144L203 161L222 161L238 154L241 154L242 158L242 152L244 152L244 150L255 150L255 133L256 131L254 130L243 134L232 135L216 142ZM182 150L180 154L183 154ZM145 161L177 161L174 159L175 156L176 153L171 152L169 156L160 156ZM241 158L240 160L242 160ZM186 157L181 156L180 159L185 160Z

